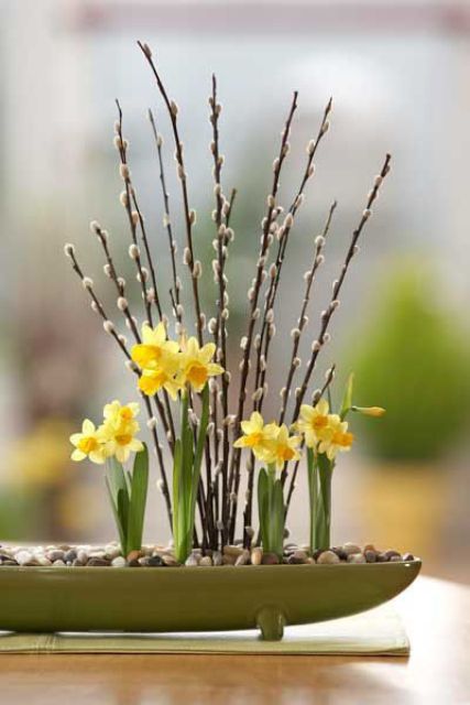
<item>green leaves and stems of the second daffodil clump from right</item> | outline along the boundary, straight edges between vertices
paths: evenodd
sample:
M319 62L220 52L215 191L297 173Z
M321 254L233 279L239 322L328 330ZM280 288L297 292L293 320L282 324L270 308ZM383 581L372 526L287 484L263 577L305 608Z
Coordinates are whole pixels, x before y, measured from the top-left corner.
M258 476L258 512L263 550L274 553L280 561L284 552L285 505L282 481L276 478L276 464L267 470L262 468Z

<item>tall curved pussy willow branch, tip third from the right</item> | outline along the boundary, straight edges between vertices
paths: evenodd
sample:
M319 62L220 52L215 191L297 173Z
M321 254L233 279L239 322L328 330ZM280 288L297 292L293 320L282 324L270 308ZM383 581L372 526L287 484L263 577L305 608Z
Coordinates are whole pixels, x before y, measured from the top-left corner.
M305 186L307 185L308 180L315 173L314 159L317 153L318 147L321 142L321 139L328 132L329 116L331 112L331 108L332 108L332 100L330 98L324 110L324 115L321 118L321 122L320 122L316 139L310 140L310 142L307 145L307 162L300 180L300 185L288 209L284 224L277 232L278 243L277 243L276 260L275 260L275 265L272 270L273 275L271 276L271 280L270 280L270 286L267 289L266 296L264 300L263 322L261 326L261 344L260 344L258 356L256 356L254 409L258 411L261 411L263 401L265 398L265 379L266 379L266 370L267 370L267 358L269 358L270 346L275 334L275 326L273 326L274 303L275 303L275 299L278 290L280 280L281 280L281 272L282 272L282 268L285 259L288 237L294 226L294 218L297 214L297 210L299 209L302 203L304 202Z

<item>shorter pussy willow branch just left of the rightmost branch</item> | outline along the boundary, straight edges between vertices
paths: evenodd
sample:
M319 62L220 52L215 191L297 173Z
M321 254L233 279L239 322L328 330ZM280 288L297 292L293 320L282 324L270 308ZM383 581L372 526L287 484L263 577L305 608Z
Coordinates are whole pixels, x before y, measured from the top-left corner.
M328 236L328 231L331 225L331 219L332 219L336 207L337 207L337 202L335 200L330 206L328 217L325 223L325 227L321 235L319 236L319 238L315 239L314 259L313 259L310 269L305 274L305 292L304 292L304 301L300 307L300 315L298 316L298 319L297 319L297 328L293 328L292 330L293 345L292 345L291 364L287 372L287 380L285 386L281 390L282 406L280 412L280 421L278 421L280 424L284 422L288 398L291 395L292 382L293 382L295 372L298 368L297 354L298 354L298 347L300 345L302 335L308 322L307 310L310 301L311 285L314 283L314 279L318 269L321 267L324 262L323 249L325 246L325 240Z

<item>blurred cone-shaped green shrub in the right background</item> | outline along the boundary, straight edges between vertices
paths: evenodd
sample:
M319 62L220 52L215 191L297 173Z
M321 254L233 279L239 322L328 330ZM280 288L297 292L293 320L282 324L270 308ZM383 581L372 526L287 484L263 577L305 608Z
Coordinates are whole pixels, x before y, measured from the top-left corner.
M381 424L364 424L368 448L384 459L434 460L459 443L469 420L468 335L423 264L401 263L382 290L348 364L358 397L387 410Z

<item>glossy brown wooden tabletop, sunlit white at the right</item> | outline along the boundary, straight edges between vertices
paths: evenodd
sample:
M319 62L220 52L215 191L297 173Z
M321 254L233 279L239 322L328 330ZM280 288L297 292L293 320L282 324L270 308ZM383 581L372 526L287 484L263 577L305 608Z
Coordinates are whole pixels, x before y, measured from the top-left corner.
M0 654L0 703L470 703L470 588L419 577L395 606L412 642L407 659Z

